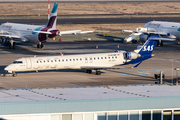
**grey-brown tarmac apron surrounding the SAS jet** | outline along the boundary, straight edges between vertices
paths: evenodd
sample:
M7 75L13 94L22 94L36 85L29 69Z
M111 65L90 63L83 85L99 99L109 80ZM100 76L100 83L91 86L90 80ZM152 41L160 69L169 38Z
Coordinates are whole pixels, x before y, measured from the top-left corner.
M99 49L96 49L98 45ZM119 45L119 48L117 46ZM34 55L60 55L78 53L113 52L115 50L134 50L138 43L124 44L121 41L69 41L47 42L45 49L36 49L35 44L18 43L17 49L9 50L0 46L0 74L6 73L4 67L17 58ZM85 70L52 70L36 72L21 72L17 77L0 77L0 88L30 88L30 87L60 87L60 86L94 86L121 84L154 84L157 80L154 74L158 70L165 71L165 83L176 79L175 67L180 67L180 46L167 45L156 47L155 57L142 62L134 69L102 70L101 75L85 73Z

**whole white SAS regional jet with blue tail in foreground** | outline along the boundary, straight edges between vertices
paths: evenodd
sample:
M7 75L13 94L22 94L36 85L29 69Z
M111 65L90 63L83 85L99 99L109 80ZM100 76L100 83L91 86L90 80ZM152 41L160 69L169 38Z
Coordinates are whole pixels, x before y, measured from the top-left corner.
M113 53L80 54L65 56L26 57L15 60L4 70L13 73L22 71L40 71L57 69L86 69L87 73L96 70L96 75L101 74L101 69L121 69L118 65L137 64L151 58L152 51L159 37L149 37L146 43L134 52L118 51Z

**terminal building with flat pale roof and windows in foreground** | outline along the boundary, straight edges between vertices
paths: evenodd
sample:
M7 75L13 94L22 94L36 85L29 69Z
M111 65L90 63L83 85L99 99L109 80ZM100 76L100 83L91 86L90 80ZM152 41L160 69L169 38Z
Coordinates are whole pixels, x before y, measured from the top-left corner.
M111 85L0 90L8 120L180 120L180 86Z

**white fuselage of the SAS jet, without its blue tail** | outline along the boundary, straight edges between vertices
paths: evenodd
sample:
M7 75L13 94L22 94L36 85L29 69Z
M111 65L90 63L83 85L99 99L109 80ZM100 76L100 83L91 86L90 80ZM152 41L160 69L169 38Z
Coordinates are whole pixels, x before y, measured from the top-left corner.
M45 56L19 58L16 62L8 65L5 70L8 72L39 71L54 69L82 69L88 67L112 67L125 62L124 51L114 53L80 54L65 56Z

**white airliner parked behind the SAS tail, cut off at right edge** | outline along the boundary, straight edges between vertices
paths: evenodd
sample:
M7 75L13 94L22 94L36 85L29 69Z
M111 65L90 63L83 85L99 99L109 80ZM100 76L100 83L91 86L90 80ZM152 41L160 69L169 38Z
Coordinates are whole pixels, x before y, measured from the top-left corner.
M133 30L122 30L124 32L132 32L132 34L124 39L124 42L131 42L139 36L141 42L145 42L150 36L160 36L158 45L163 45L163 41L180 40L180 23L150 21L146 23L144 28Z

